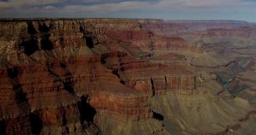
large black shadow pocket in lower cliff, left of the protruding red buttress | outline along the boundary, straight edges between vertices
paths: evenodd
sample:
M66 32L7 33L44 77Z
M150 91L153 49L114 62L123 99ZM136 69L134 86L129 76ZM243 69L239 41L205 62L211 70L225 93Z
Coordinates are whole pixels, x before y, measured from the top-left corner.
M80 103L78 104L78 109L80 112L80 123L84 125L84 121L87 121L88 124L93 123L93 118L97 111L90 104L87 103L87 98L82 96Z

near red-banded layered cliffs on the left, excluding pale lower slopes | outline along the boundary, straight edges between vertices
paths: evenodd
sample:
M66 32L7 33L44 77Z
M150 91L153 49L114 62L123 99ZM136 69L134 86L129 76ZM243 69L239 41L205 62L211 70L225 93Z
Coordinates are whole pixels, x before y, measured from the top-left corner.
M166 90L192 93L196 87L185 60L141 59L150 56L141 49L186 48L185 41L156 36L136 20L9 20L0 25L3 134L97 134L102 126L94 122L98 112L120 121L153 119L150 96ZM159 77L146 74L167 68L170 73Z

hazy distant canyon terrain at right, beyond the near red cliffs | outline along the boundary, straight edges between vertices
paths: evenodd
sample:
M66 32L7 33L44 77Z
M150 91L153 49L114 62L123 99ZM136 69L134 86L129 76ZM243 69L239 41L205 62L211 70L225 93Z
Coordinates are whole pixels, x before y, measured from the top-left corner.
M159 22L157 22L159 23ZM163 34L161 27L154 26L154 21L147 23L153 26L152 31ZM170 50L154 51L155 54L174 53L184 55L190 65L196 71L207 73L207 76L215 78L222 88L216 92L224 99L237 97L245 99L255 110L255 25L237 21L165 21L167 24L179 24L186 30L168 32L168 36L180 36L188 43L193 43L193 51ZM166 28L166 29L168 29ZM177 27L178 28L178 27ZM206 76L204 76L206 77ZM209 86L206 79L204 87ZM248 113L248 117L240 120L238 129L230 129L222 134L253 134L255 123L254 111ZM175 118L175 117L174 117ZM247 125L247 127L245 127ZM200 126L201 127L201 126ZM231 132L230 132L231 131ZM236 132L237 131L237 132Z

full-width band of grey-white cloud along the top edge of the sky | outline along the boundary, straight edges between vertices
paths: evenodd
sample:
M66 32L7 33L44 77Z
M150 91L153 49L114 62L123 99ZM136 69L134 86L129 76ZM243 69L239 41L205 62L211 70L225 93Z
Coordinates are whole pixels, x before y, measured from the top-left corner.
M90 4L88 4L90 3ZM0 1L0 8L22 8L40 5L61 5L62 11L122 11L128 9L186 9L186 8L221 8L255 5L247 0L9 0ZM26 8L25 8L26 7Z

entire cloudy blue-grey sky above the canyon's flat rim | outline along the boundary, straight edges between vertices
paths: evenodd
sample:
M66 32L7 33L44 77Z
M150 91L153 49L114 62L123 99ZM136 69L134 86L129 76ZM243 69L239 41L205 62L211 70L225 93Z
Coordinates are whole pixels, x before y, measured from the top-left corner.
M256 0L0 0L0 18L158 18L256 22Z

